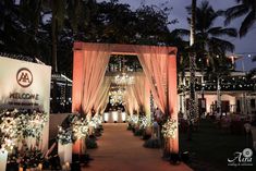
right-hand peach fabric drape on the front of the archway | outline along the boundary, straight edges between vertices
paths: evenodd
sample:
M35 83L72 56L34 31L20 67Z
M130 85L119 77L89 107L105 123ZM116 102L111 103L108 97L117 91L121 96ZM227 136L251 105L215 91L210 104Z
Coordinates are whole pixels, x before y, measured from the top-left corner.
M138 60L149 82L153 97L159 109L167 112L167 59L169 48L157 46L134 46Z

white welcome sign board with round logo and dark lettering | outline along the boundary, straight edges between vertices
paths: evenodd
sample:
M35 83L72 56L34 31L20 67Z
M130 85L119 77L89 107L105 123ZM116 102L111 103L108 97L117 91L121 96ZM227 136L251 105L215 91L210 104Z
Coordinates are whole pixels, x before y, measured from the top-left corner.
M0 57L0 110L50 109L51 68ZM42 133L42 148L48 148L49 122Z

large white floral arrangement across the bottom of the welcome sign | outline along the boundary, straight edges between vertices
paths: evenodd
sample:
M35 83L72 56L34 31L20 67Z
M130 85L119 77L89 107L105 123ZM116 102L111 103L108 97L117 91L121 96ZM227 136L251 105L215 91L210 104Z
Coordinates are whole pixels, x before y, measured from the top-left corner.
M48 120L45 112L16 109L2 111L0 118L0 145L9 151L26 137L39 141Z

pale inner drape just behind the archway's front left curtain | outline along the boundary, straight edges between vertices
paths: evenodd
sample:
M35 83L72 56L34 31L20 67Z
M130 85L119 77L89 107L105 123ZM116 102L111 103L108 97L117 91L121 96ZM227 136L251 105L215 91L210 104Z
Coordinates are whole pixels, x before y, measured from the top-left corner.
M111 77L105 76L103 84L100 87L99 94L94 103L94 109L96 109L96 113L102 114L102 112L105 111L107 107L110 84L111 84Z

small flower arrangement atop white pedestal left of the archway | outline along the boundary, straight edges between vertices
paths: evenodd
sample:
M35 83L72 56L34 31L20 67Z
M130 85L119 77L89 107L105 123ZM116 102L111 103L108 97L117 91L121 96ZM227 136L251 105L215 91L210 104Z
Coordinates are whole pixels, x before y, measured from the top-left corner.
M70 144L73 143L73 133L71 129L63 129L62 126L58 126L58 135L57 135L57 139L60 144L65 145L65 144Z

